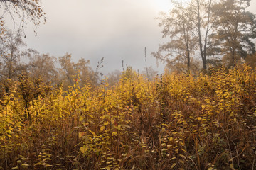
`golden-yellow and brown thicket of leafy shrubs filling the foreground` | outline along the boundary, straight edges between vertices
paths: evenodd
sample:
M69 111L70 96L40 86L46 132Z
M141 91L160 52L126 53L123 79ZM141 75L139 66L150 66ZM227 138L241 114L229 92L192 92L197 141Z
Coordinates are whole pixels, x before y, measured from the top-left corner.
M247 65L75 81L63 91L22 76L1 96L0 169L256 169Z

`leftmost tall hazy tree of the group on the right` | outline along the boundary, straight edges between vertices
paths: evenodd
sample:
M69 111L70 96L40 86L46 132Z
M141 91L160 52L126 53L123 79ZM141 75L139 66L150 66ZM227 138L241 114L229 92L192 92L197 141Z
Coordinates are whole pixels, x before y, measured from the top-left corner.
M185 8L182 3L173 1L174 8L169 15L162 13L159 26L163 38L169 36L170 42L160 45L157 52L152 55L159 60L174 65L181 72L188 72L191 67L191 55L196 50L196 36L193 35L192 11ZM184 68L183 64L186 64Z

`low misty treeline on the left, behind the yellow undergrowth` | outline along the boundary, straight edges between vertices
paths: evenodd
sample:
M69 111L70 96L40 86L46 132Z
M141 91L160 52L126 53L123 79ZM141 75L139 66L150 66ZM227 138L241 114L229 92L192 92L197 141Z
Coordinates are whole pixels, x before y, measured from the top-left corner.
M103 74L103 58L98 62L96 68L92 69L90 60L81 58L73 62L71 54L61 57L53 57L49 54L26 48L21 30L13 32L6 30L0 39L0 94L8 93L14 81L21 81L29 77L33 81L42 82L49 86L62 86L67 90L68 86L80 81L85 83L100 84ZM121 72L115 71L110 76L110 84L119 79Z

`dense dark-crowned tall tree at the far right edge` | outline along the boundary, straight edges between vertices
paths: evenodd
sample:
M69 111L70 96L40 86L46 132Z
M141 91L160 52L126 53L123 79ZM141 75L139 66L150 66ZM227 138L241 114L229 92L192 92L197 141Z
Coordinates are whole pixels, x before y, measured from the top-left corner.
M255 14L245 11L248 6L250 0L224 0L214 6L217 34L211 38L228 67L255 52Z

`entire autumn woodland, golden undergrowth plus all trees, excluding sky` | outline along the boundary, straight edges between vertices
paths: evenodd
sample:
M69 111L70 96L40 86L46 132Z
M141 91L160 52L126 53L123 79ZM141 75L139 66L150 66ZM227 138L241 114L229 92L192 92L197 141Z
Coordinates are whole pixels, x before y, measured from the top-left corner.
M151 53L164 73L104 76L104 57L92 68L26 46L23 26L46 23L39 0L0 0L21 23L0 17L0 169L256 169L250 0L171 3L169 42Z

